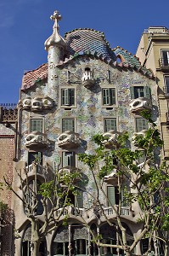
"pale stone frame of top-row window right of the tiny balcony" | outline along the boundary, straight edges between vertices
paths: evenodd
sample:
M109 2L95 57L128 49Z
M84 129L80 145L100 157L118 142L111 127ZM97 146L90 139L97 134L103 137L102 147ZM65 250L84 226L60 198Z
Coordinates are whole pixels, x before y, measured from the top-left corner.
M106 90L108 93L107 95L104 96L104 90ZM115 90L115 96L112 97L112 99L110 98L110 91L109 90ZM110 103L104 103L104 98L107 97L106 101L110 101ZM113 98L115 98L115 102L113 102ZM115 106L117 106L117 91L116 91L116 88L115 86L103 86L101 88L101 106L102 108L113 108Z

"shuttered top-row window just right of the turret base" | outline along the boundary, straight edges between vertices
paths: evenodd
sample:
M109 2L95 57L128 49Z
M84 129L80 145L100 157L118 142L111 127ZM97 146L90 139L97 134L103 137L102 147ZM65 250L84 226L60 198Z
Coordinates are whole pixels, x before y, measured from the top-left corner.
M75 89L61 89L61 106L75 106Z

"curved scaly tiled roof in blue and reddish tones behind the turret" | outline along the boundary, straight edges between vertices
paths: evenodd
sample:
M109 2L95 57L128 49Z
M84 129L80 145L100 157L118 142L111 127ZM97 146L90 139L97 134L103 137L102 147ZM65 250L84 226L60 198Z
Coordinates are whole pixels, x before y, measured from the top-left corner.
M105 40L104 33L89 28L79 28L65 33L67 46L67 57L65 61L60 61L58 66L62 66L79 55L94 55L100 60L110 63L115 67L134 68L138 72L153 78L153 73L143 67L136 55L132 55L127 50L117 46L110 49L110 44ZM121 61L117 61L118 57ZM48 63L37 69L24 74L21 90L29 89L37 81L48 78Z

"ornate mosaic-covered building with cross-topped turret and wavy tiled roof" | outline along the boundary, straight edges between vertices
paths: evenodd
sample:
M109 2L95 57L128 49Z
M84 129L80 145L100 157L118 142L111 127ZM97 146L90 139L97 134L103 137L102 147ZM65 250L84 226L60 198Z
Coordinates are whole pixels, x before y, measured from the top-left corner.
M155 116L156 85L153 73L141 65L138 57L120 47L110 49L104 34L93 29L76 29L59 35L57 11L51 16L54 32L45 42L48 63L24 74L20 102L18 104L18 131L14 170L27 170L30 183L53 177L55 166L71 172L80 170L87 179L85 189L96 193L91 172L78 161L77 154L93 153L92 141L96 133L115 138L122 131L134 132L148 129L148 123L139 115L149 109ZM155 110L155 111L154 111ZM33 163L41 159L38 172ZM44 172L44 167L46 172ZM36 169L37 170L37 169ZM36 172L36 175L35 175ZM112 204L115 199L115 182L105 177L104 189ZM113 185L112 185L113 184ZM14 171L13 187L20 190L20 180ZM46 236L40 247L42 255L123 255L115 248L94 246L82 218L101 234L103 239L116 243L115 232L110 231L104 216L99 221L93 199L84 192L71 199L75 207L70 212L68 226L63 226L64 212L59 227ZM104 214L115 220L115 212L103 195ZM73 209L78 207L80 215ZM141 224L137 223L140 207L138 203L121 207L121 218L127 227L128 239L138 236ZM43 216L38 209L36 218ZM82 218L81 218L82 216ZM30 223L22 202L14 197L15 229L19 230L14 240L14 255L31 256ZM138 243L135 253L143 253L143 244ZM6 254L4 254L6 255Z

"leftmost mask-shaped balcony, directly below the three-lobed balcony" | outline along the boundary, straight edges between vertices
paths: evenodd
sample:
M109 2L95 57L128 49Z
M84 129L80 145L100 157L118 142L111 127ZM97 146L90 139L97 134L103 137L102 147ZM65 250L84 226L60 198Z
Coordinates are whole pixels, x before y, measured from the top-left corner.
M48 148L49 141L47 135L40 131L32 131L25 137L25 146L32 150L38 151L40 149Z

